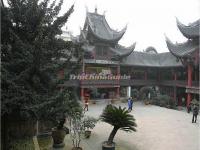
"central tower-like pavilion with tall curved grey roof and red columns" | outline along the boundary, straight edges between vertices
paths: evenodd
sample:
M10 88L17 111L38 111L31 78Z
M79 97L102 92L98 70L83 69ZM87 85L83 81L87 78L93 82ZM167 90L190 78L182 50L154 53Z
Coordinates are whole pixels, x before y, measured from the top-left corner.
M130 47L118 44L126 32L126 28L116 31L110 28L105 15L87 12L85 24L79 37L84 42L84 60L82 72L102 76L120 75L120 60L130 55L135 43ZM91 98L111 98L120 95L119 79L82 80L80 82L81 97L91 91Z

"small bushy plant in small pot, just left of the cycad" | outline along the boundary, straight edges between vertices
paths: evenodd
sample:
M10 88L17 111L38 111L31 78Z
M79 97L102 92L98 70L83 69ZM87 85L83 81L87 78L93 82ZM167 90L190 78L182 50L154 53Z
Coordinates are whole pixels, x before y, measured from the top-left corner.
M85 128L85 137L86 138L89 138L90 135L91 135L91 130L90 129L93 129L95 127L95 124L97 123L97 119L94 118L94 117L85 117L84 120L83 120L83 125L84 125L84 128Z

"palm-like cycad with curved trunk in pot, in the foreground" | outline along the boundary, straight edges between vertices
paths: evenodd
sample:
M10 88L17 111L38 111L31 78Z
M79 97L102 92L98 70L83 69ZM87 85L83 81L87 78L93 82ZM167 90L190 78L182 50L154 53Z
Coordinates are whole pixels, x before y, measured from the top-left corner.
M135 118L129 114L126 108L108 105L101 114L100 120L113 126L108 141L103 142L102 150L115 150L113 140L119 129L126 132L136 132L135 127L137 127L137 124L135 123Z

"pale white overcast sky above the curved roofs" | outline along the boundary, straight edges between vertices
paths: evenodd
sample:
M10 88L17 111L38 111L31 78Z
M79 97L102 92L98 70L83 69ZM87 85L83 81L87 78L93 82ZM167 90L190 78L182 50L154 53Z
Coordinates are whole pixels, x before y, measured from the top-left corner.
M199 0L64 0L62 11L75 2L67 29L73 35L80 34L83 28L86 7L105 16L111 28L121 30L128 24L127 31L119 41L123 46L137 42L136 51L153 46L160 52L167 52L166 34L172 42L184 42L186 39L176 26L176 17L185 25L200 18Z

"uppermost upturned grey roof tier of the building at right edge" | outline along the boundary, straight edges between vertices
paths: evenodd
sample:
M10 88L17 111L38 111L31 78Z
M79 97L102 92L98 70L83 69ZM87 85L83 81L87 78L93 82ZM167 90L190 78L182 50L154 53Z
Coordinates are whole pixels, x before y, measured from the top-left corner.
M200 19L198 19L197 21L189 25L184 25L176 18L176 23L177 23L178 29L186 38L188 39L199 38Z

